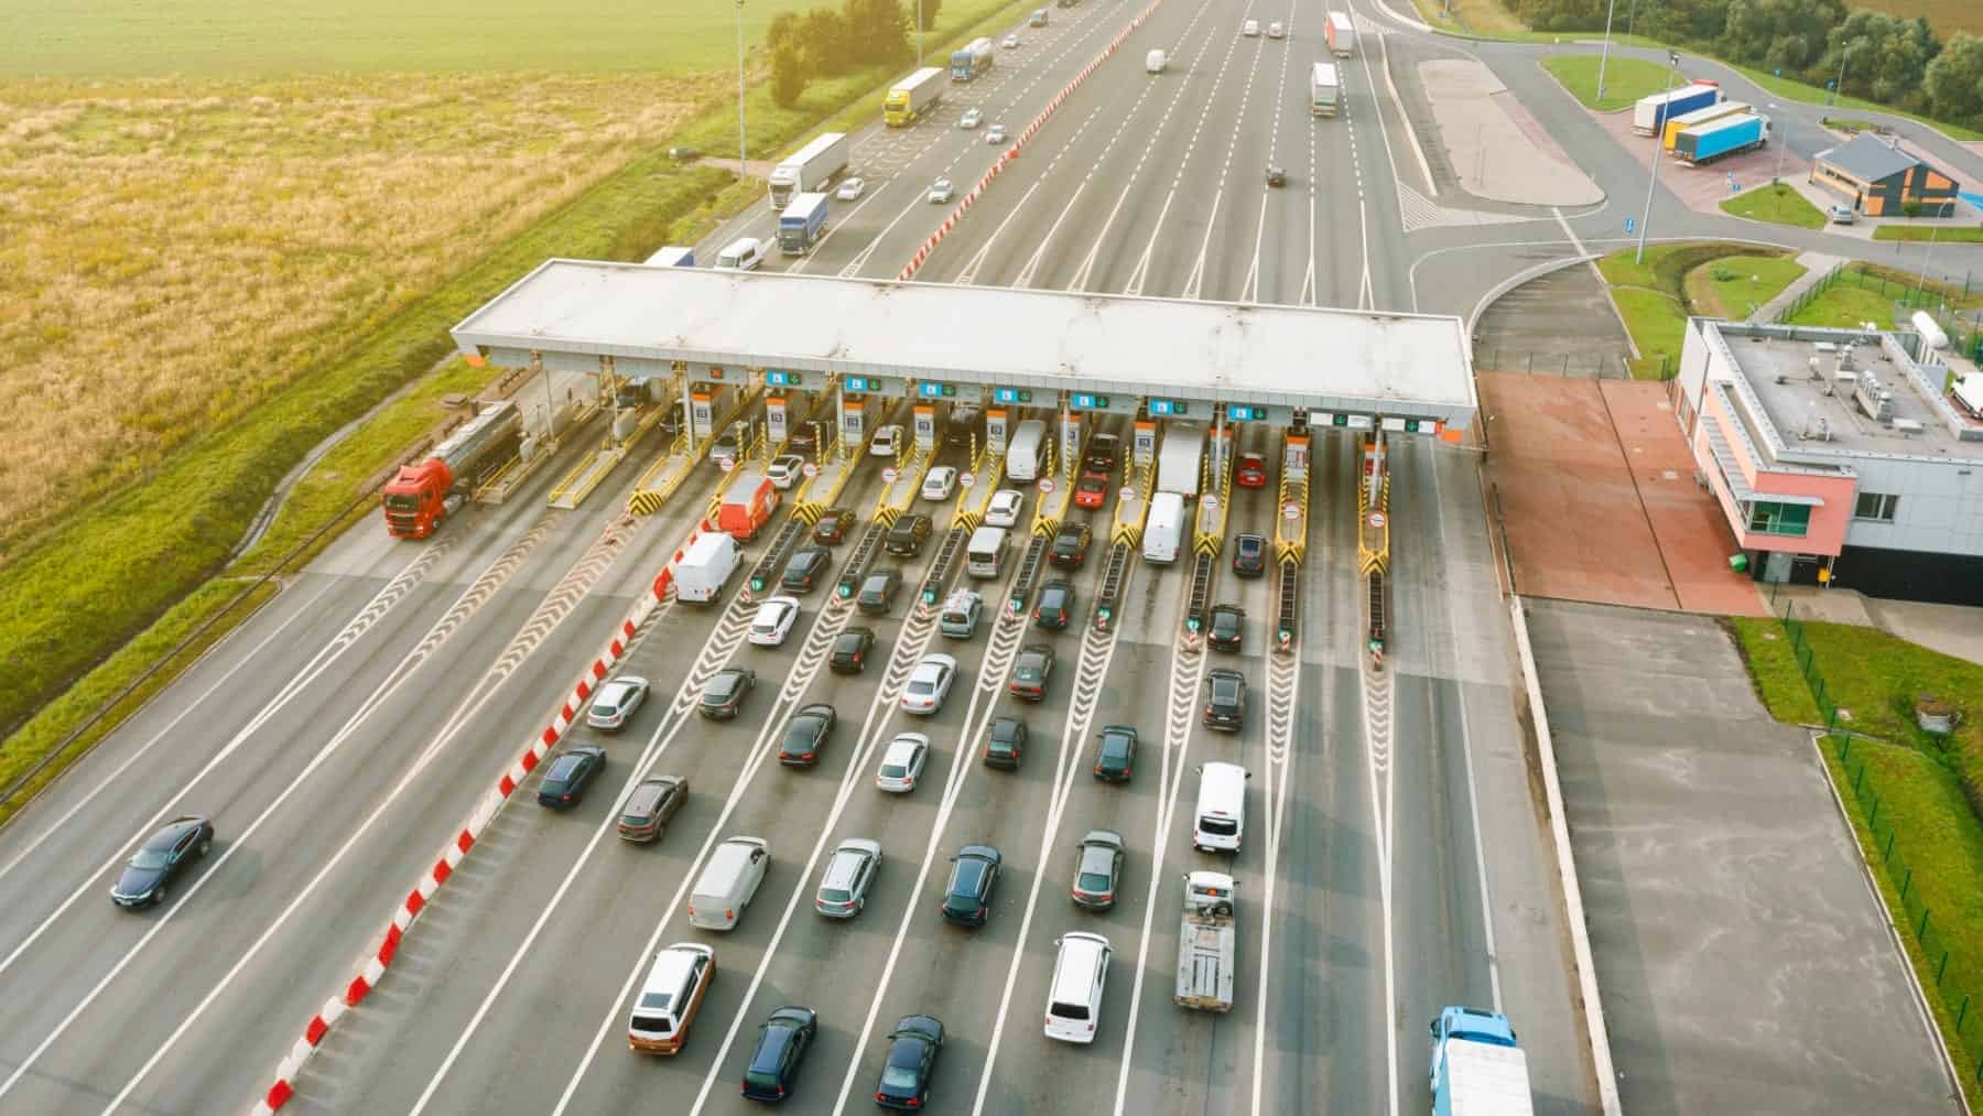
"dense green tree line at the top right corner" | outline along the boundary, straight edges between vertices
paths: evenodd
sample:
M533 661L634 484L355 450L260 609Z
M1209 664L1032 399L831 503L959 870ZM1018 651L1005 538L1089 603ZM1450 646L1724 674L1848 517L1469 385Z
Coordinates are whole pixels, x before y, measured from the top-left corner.
M1602 32L1610 0L1511 0L1539 32ZM1844 0L1616 0L1614 32L1636 32L1910 113L1983 127L1983 38L1943 42L1927 20Z

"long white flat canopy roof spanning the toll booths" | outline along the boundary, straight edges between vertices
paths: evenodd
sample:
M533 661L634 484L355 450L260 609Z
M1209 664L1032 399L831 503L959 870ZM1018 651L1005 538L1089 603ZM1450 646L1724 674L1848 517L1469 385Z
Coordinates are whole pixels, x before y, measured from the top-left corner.
M1414 313L547 260L452 333L498 365L595 371L613 357L623 377L777 369L1456 430L1477 410L1465 327Z

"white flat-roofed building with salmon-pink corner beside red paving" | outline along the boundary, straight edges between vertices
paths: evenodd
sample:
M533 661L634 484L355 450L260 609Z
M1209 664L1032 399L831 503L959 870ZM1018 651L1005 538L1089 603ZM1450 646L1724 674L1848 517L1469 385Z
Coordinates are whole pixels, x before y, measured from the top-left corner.
M1697 317L1678 412L1759 577L1983 605L1983 420L1918 335Z

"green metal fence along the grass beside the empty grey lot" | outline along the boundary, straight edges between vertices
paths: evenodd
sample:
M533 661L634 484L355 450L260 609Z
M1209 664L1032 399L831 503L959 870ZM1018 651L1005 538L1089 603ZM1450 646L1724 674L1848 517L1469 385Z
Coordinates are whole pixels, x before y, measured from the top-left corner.
M1775 585L1771 585L1771 605L1777 605ZM1884 894L1894 922L1904 924L1906 934L1920 948L1925 965L1924 983L1929 999L1939 1001L1939 1011L1931 1009L1931 1013L1943 1025L1943 1037L1951 1045L1949 1055L1955 1059L1957 1070L1971 1076L1971 1084L1983 1086L1983 1019L1975 1019L1983 1015L1983 999L1975 997L1973 991L1983 989L1983 969L1977 967L1975 957L1957 955L1949 948L1947 936L1935 924L1935 910L1916 888L1916 866L1908 862L1908 844L1933 837L1904 833L1906 819L1894 817L1884 807L1880 781L1866 757L1864 741L1870 737L1858 737L1858 745L1854 745L1852 731L1838 727L1838 702L1832 700L1830 686L1818 670L1816 652L1805 638L1805 622L1793 614L1791 601L1783 601L1777 618L1791 642L1791 656L1810 688L1810 698L1818 706L1818 720L1824 722L1818 745L1838 763L1842 773L1842 779L1836 779L1838 793L1858 805L1860 821L1866 825L1866 864L1886 882ZM1898 910L1894 900L1898 900ZM1945 916L1953 912L1945 912Z

